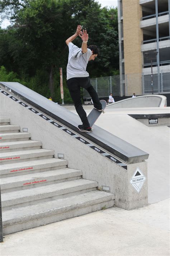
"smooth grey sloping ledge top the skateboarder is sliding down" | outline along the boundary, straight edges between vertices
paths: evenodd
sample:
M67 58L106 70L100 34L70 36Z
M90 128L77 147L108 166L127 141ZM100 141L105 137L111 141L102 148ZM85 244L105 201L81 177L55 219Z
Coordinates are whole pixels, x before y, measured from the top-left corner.
M13 93L28 104L47 114L51 118L59 121L62 125L76 131L88 138L90 141L103 147L110 153L118 156L127 163L136 163L148 159L148 154L137 147L127 143L126 141L116 137L110 132L94 125L94 131L91 133L83 133L79 131L77 125L81 123L79 116L71 111L63 108L55 102L49 101L47 98L30 90L20 83L0 82L1 88Z

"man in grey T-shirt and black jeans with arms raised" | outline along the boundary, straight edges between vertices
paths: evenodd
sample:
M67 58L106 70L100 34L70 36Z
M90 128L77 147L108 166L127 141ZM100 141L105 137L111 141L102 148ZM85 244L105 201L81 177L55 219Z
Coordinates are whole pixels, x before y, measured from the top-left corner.
M94 108L102 111L102 105L100 103L99 97L95 89L90 83L89 73L86 71L88 61L94 60L98 54L99 50L96 45L87 46L88 34L84 29L81 31L81 25L77 26L76 33L66 40L66 44L69 46L69 59L67 64L67 86L77 114L80 116L82 125L78 125L78 128L82 132L91 132L91 127L87 119L85 110L82 107L81 97L80 97L80 87L85 88L94 104ZM77 47L72 43L72 41L80 36L82 40L81 48Z

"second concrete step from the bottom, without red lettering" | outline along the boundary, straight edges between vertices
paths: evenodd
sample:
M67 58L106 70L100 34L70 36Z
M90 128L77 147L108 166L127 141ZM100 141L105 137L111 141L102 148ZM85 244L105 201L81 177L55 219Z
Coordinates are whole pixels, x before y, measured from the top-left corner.
M75 170L74 170L75 171ZM79 175L77 172L75 175ZM66 174L68 175L68 173ZM65 176L66 177L66 176ZM41 183L39 183L41 186ZM78 195L87 191L96 190L98 183L87 179L75 179L57 184L50 184L36 188L17 190L2 193L3 209L14 209L18 207L35 205L40 202L65 198L67 196Z

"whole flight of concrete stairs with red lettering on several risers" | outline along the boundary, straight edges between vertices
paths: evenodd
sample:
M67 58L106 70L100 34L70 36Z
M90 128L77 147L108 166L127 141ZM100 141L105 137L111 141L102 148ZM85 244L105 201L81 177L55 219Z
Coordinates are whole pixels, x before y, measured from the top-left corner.
M0 119L4 235L114 205L113 194L97 190L97 182L83 179L80 170L67 168L67 160L54 158L53 150L9 122Z

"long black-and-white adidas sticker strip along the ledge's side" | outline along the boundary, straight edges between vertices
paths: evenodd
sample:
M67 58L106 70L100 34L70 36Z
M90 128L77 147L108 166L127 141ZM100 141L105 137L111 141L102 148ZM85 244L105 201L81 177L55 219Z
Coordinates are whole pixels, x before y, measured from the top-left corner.
M79 135L75 134L74 132L71 132L69 129L67 129L66 127L56 123L54 120L48 118L46 115L38 112L36 109L33 109L31 106L25 104L24 102L16 99L15 97L13 97L12 95L10 95L9 93L3 91L0 89L0 92L3 93L4 95L8 96L10 99L14 100L15 102L19 103L20 105L24 106L25 108L29 109L30 111L32 111L33 113L35 113L36 115L41 116L44 120L46 120L47 122L55 125L57 128L63 130L64 132L66 132L67 134L71 135L73 138L76 138L77 140L81 141L82 143L84 143L86 146L92 148L93 150L95 150L96 152L98 152L99 154L101 154L102 156L107 157L108 159L110 159L111 161L113 161L114 163L116 163L119 166L122 166L124 169L127 170L127 165L122 163L121 161L119 161L118 159L116 159L114 156L109 155L107 152L101 150L100 148L96 147L95 145L91 144L89 141L84 140L83 138L81 138Z

